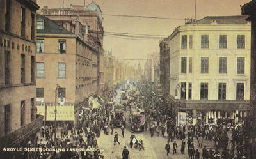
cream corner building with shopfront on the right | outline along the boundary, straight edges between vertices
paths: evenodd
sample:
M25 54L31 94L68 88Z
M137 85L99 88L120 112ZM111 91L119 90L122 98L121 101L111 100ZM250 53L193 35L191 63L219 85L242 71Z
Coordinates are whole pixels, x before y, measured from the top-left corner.
M237 123L246 117L251 26L244 19L204 17L177 27L164 40L170 47L169 94L181 122L188 117L193 124L220 118Z

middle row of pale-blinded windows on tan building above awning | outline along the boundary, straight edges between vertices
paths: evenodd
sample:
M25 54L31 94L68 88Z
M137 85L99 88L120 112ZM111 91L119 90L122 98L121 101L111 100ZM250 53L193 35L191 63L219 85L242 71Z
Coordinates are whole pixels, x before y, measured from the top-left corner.
M36 77L44 77L44 63L36 63ZM58 78L66 77L66 63L58 63Z

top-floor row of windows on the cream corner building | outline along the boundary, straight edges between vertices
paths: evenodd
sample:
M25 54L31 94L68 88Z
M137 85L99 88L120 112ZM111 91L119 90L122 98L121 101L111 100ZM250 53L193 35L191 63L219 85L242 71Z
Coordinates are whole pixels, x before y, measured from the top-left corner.
M189 49L193 48L193 35L189 35ZM201 48L209 48L209 35L201 36ZM219 36L219 48L227 49L227 35ZM237 49L245 48L245 35L237 35ZM181 36L181 49L187 49L187 35Z

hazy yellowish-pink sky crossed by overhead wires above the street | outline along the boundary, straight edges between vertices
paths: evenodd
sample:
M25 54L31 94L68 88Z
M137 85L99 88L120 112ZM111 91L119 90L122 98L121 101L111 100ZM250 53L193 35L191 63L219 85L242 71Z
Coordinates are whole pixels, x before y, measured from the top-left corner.
M196 19L206 16L241 15L240 5L250 0L196 0ZM62 0L37 0L40 8L60 8ZM86 0L86 5L91 0ZM107 32L170 35L175 27L184 25L186 17L195 17L195 0L95 0L103 13L103 27ZM83 5L84 0L64 0L65 8L70 4ZM141 15L168 17L182 20L142 19L134 17L111 17L115 15ZM147 54L159 52L159 40L127 40L104 36L104 50L112 49L118 59L147 59ZM129 61L130 64L145 61Z

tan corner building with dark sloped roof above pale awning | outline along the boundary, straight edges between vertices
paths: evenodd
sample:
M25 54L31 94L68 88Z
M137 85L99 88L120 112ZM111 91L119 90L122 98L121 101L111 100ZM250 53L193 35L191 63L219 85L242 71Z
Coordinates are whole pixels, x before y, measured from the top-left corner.
M36 102L74 105L75 112L95 94L97 50L74 33L58 26L44 15L36 15ZM81 23L76 23L79 28ZM86 36L86 35L84 35ZM57 84L61 87L56 93Z

